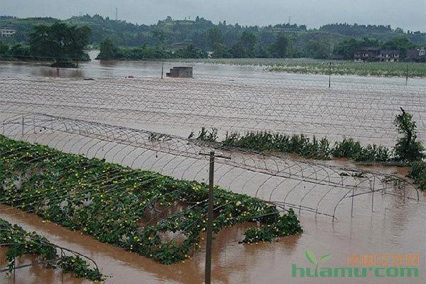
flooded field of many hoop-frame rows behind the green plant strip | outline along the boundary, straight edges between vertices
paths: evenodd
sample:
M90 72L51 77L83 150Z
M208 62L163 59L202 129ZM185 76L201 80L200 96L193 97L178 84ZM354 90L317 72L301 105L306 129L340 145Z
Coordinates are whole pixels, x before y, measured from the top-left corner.
M339 82L329 89L324 82L291 77L224 78L84 81L5 76L0 107L3 114L51 114L184 137L205 126L217 128L222 136L226 131L267 130L331 140L352 137L386 146L395 144L393 119L402 107L413 114L419 138L426 140L424 84Z

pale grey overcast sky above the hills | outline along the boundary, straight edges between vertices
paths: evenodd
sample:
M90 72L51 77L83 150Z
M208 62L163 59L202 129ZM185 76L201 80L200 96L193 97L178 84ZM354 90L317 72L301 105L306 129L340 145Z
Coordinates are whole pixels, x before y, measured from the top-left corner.
M217 23L268 25L302 23L390 24L426 31L426 0L0 0L0 15L69 18L99 13L132 23L156 23L165 16L202 16Z

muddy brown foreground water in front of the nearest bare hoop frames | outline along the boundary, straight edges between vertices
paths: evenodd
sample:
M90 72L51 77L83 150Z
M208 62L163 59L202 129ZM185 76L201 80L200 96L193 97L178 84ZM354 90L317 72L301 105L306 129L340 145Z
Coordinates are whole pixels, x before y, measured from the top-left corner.
M388 198L388 204L384 209L377 207L373 213L368 212L369 204L357 202L354 218L342 218L337 222L302 212L300 221L305 231L272 244L238 244L245 226L223 230L214 239L213 283L342 283L339 278L292 278L292 263L309 266L305 249L317 256L330 253L329 266L347 266L348 256L356 253L418 253L420 278L367 278L351 283L425 283L425 195L421 197L421 203L407 202L403 207L399 198L383 197ZM380 199L380 195L376 198ZM106 283L203 282L204 248L185 263L163 266L11 207L1 205L0 218L93 258L103 273L110 276ZM28 263L26 259L21 262ZM16 283L62 283L61 277L58 272L33 266L17 271ZM2 275L0 279L0 283L13 283L10 275ZM64 283L88 283L70 275L65 275L64 279Z

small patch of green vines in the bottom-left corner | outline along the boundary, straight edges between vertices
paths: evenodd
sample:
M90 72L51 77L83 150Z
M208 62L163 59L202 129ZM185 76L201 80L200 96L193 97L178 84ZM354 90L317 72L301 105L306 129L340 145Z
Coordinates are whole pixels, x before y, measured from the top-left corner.
M8 248L6 259L10 272L13 271L16 258L31 254L43 260L47 268L61 268L64 273L74 273L77 278L92 281L102 281L104 278L97 268L90 268L80 256L58 256L56 247L48 239L35 232L24 231L4 219L0 219L0 246Z

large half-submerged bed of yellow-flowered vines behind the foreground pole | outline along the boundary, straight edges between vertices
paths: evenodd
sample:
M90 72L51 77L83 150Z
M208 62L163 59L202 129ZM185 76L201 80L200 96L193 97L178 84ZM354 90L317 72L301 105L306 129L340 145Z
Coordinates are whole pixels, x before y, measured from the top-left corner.
M207 222L208 189L104 160L0 136L0 202L161 263L190 258ZM293 210L214 190L214 233L256 222L244 243L302 231ZM253 225L254 226L254 225Z

